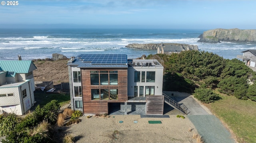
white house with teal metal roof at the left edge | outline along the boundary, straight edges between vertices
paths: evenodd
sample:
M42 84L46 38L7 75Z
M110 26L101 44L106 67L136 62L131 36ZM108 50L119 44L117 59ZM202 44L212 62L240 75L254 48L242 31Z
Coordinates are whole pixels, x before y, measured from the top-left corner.
M34 106L32 61L0 61L0 114L23 115Z

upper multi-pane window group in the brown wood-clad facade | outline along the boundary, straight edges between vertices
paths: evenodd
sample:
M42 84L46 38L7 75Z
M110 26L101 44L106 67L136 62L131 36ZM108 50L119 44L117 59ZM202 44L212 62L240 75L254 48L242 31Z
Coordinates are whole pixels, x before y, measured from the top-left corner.
M118 71L90 71L91 85L118 85Z

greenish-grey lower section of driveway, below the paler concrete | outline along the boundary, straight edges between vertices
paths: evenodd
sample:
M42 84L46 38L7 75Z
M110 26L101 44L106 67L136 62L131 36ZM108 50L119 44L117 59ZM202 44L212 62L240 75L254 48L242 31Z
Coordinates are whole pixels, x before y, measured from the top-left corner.
M214 115L188 115L205 143L236 143L230 132Z

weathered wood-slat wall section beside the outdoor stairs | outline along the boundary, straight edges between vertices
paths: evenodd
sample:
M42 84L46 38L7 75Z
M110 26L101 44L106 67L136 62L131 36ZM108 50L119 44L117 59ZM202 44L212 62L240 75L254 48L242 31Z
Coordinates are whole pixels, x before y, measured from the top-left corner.
M147 107L146 114L147 115L163 115L164 113L164 96L146 96Z

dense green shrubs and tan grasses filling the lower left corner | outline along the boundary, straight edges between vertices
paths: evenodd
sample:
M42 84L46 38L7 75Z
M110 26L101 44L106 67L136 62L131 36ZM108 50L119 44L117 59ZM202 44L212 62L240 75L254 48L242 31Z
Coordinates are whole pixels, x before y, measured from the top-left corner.
M60 104L52 100L42 108L27 114L25 118L14 113L1 115L0 135L6 135L2 143L50 143L53 141L51 125L57 121Z

